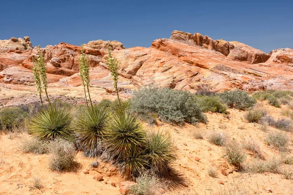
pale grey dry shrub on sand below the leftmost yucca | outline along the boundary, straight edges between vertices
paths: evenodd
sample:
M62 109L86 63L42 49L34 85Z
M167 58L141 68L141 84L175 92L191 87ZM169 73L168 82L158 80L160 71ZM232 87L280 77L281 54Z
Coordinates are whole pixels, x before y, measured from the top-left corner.
M50 143L49 167L54 171L71 171L78 167L73 143L56 139Z

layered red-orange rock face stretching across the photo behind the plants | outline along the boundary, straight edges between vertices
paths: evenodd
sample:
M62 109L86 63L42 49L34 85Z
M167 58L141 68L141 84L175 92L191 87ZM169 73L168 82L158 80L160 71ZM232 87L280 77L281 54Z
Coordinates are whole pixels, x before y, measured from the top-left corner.
M151 47L125 49L118 41L89 41L84 44L91 70L92 87L113 93L111 75L105 65L107 47L120 64L119 90L156 84L173 89L214 91L239 88L248 91L278 89L293 91L293 50L278 49L266 54L244 43L213 40L199 33L174 31L170 39L156 39ZM78 87L81 47L60 43L42 48L50 85ZM0 53L0 80L33 85L33 50Z

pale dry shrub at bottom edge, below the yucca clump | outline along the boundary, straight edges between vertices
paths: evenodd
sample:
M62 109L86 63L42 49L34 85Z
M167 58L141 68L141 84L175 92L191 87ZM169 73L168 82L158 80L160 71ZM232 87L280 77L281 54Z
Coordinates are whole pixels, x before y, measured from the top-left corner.
M133 195L159 195L160 190L166 190L166 184L156 176L148 173L136 178L136 185L130 189Z

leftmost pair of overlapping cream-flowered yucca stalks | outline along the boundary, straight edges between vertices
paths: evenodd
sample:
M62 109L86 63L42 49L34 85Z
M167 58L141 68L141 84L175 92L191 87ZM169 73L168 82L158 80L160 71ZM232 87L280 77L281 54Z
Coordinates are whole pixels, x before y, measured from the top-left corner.
M47 67L46 67L46 63L45 63L40 45L39 45L39 54L37 58L33 60L33 63L34 63L34 66L32 67L32 73L34 75L37 91L41 98L41 103L42 103L42 96L41 96L42 89L44 89L46 97L47 97L47 101L49 102L49 105L52 108L52 105L47 93L47 88L48 88L47 75L46 75Z

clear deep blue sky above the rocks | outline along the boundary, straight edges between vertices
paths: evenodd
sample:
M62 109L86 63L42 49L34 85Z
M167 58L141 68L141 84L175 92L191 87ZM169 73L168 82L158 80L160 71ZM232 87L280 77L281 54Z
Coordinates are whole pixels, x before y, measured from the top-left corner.
M293 0L1 0L0 39L42 47L118 40L149 47L173 30L237 40L270 52L293 48Z

